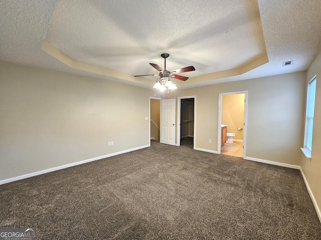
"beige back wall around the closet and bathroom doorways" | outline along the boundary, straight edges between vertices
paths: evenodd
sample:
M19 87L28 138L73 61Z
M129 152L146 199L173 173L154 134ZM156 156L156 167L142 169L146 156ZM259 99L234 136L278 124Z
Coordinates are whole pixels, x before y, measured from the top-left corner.
M302 71L177 89L166 97L196 95L196 147L217 151L219 93L248 90L246 156L299 165L305 78Z

